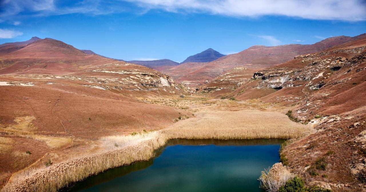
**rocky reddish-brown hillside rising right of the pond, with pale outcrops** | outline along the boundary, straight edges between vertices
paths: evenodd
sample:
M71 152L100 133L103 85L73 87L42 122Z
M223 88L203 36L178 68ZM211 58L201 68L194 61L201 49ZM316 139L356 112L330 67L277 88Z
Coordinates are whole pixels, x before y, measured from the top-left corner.
M309 185L319 184L333 191L365 189L365 35L259 70L252 78L245 74L244 69L231 70L208 83L210 87L222 85L223 89L203 85L199 92L240 100L261 98L292 108L288 115L294 121L310 123L317 130L284 149L282 155L292 171ZM225 84L230 82L227 78L240 84ZM320 160L326 169L317 169Z

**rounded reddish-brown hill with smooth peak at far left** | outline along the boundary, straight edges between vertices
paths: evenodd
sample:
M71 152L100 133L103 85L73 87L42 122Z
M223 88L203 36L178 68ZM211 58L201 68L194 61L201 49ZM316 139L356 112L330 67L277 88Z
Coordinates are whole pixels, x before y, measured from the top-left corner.
M88 55L62 41L45 38L0 56L0 74L66 74L115 61Z

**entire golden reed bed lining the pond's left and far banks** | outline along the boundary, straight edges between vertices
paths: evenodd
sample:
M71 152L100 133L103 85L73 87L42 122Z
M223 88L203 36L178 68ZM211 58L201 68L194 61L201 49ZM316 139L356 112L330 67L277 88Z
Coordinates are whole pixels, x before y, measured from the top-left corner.
M252 110L199 112L196 118L179 121L168 129L133 136L102 137L102 152L17 177L2 191L57 191L71 182L107 169L149 160L154 157L154 150L169 139L291 139L312 131L309 126L292 122L279 113Z

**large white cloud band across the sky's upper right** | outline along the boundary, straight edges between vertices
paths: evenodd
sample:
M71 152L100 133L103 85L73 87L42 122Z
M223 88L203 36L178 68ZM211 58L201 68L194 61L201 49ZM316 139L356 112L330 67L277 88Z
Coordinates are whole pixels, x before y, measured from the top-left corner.
M362 0L127 0L149 9L228 16L282 15L305 19L366 20ZM341 11L340 11L341 10Z

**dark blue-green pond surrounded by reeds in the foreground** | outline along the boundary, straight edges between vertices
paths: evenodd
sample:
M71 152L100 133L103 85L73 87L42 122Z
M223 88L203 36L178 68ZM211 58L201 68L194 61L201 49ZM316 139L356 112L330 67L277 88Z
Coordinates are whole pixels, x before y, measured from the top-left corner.
M279 161L283 141L171 140L154 159L104 171L66 191L262 192L257 179Z

